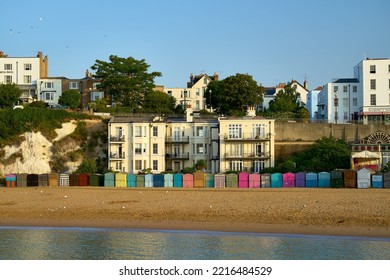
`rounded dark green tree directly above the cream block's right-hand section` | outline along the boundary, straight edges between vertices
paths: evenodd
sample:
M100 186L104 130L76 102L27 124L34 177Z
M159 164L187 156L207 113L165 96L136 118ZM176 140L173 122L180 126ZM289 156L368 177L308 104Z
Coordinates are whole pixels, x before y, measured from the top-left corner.
M245 113L248 105L258 105L263 101L264 87L259 86L251 75L239 74L221 81L212 81L206 89L206 102L219 113Z

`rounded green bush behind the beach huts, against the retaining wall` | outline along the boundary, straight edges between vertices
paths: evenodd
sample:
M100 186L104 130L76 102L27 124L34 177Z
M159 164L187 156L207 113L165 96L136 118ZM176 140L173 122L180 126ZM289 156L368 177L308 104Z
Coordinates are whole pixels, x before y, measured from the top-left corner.
M310 149L297 153L294 162L307 171L332 171L351 167L351 150L347 143L334 137L322 137Z

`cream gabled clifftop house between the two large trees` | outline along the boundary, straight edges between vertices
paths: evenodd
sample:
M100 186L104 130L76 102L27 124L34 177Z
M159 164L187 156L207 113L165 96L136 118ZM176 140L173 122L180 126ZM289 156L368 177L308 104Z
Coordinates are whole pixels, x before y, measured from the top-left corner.
M213 76L206 74L193 76L191 74L186 88L164 88L163 91L176 99L176 106L181 105L187 108L190 105L195 111L204 110L206 109L206 88L213 80L218 80L217 73Z

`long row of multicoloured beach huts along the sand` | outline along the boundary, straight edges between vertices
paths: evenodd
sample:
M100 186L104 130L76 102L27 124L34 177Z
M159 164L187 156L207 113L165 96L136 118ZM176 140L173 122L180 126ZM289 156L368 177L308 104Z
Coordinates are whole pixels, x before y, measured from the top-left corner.
M370 169L334 170L298 173L228 173L211 174L8 174L7 187L101 186L101 187L176 187L176 188L390 188L390 173L378 174Z

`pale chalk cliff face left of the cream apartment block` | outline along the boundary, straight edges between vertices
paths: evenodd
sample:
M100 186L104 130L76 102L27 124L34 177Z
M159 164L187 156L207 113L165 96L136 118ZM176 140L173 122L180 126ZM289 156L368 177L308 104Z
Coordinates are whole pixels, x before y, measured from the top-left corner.
M96 145L94 153L87 153L86 147L91 131L106 133L101 121L86 121L85 139L75 140L76 121L63 123L62 128L56 129L57 137L48 140L40 132L26 132L20 136L20 143L5 146L0 162L0 175L9 173L51 173L74 172L86 156L105 157L104 147ZM97 128L98 127L98 128ZM73 156L72 156L73 155Z

